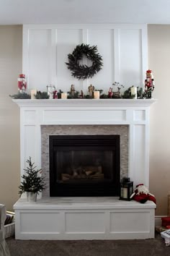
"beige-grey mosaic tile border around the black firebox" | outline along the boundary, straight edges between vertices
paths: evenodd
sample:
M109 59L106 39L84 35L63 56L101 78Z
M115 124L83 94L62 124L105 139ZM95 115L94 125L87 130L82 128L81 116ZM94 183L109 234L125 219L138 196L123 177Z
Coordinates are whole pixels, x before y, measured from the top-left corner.
M120 135L120 179L128 176L128 125L42 125L41 166L46 184L42 197L50 197L50 135Z

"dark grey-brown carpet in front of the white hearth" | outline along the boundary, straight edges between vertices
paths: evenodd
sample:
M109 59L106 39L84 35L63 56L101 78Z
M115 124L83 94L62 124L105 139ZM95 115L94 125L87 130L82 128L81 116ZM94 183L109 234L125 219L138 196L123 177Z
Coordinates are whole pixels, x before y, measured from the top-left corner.
M15 240L6 239L11 256L169 256L170 247L156 234L146 240Z

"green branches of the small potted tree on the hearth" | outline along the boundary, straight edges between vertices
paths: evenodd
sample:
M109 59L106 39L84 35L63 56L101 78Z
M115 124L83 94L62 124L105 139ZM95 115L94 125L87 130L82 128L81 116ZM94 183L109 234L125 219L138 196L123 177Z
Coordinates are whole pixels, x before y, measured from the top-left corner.
M22 195L24 192L42 192L45 189L44 177L39 176L41 169L35 170L37 166L34 166L35 163L32 163L31 157L26 161L28 167L24 169L26 174L22 175L23 181L19 185L19 194Z

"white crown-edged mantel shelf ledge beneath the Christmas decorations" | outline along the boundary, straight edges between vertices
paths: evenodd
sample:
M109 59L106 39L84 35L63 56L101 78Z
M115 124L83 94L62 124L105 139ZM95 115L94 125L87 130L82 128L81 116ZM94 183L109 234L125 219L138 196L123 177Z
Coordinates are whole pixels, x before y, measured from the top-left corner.
M156 102L156 99L13 99L19 107L148 107Z

